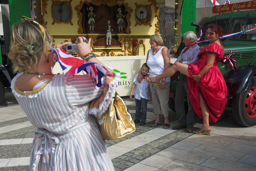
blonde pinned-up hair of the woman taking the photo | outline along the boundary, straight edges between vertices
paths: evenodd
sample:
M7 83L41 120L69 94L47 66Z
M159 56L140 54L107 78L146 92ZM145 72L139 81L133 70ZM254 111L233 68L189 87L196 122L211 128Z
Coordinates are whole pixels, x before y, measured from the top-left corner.
M41 62L53 39L47 28L32 19L13 26L9 58L14 72L32 71Z

